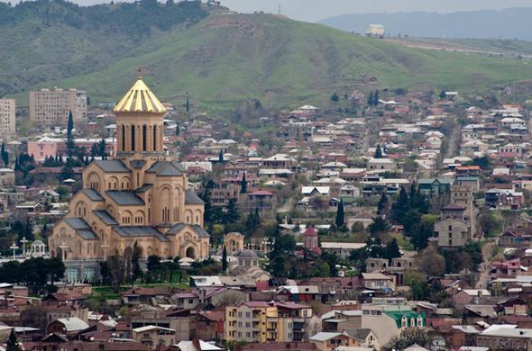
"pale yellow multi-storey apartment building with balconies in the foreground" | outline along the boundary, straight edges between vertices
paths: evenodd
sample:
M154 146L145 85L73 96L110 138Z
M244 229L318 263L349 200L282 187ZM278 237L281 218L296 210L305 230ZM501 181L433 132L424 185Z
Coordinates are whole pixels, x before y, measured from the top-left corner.
M312 308L298 303L246 302L225 308L225 341L290 342L309 338Z

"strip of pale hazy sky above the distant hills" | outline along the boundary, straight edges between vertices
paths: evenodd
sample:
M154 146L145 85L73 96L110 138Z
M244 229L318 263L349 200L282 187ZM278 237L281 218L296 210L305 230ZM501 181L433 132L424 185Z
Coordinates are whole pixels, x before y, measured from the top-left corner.
M308 22L316 22L337 14L367 14L412 11L440 13L532 7L531 0L221 0L222 4L240 12L262 10L281 13Z

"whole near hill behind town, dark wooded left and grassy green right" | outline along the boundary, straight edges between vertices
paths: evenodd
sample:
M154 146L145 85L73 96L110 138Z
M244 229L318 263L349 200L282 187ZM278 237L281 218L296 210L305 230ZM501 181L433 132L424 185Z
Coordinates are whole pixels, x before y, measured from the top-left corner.
M210 110L245 99L276 106L323 103L367 87L479 89L532 79L526 61L481 58L355 36L269 14L227 14L196 1L80 7L38 0L0 4L0 95L27 101L37 87L124 94L142 65L162 99L188 92Z

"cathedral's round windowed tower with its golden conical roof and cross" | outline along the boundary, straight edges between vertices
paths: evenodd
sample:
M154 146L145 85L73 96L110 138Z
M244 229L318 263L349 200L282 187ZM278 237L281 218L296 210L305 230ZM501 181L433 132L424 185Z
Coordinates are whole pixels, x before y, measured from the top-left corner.
M140 69L137 81L116 103L114 111L116 158L126 165L144 169L158 160L166 159L163 150L163 117L166 109L142 81Z

